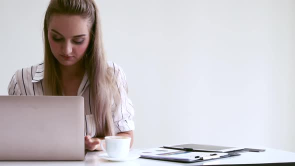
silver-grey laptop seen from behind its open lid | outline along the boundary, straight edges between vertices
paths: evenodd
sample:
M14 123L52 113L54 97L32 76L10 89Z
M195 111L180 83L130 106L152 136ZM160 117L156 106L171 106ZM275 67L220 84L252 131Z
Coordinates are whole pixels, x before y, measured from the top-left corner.
M0 160L83 160L82 96L0 96Z

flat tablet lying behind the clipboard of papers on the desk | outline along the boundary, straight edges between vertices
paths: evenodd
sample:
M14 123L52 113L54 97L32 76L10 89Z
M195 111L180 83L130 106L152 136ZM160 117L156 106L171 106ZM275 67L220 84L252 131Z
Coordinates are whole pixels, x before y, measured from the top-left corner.
M186 150L186 151L212 151L212 152L230 152L230 151L244 149L244 148L238 148L238 147L226 147L226 146L217 146L217 145L209 145L209 144L193 144L193 143L168 145L163 147Z

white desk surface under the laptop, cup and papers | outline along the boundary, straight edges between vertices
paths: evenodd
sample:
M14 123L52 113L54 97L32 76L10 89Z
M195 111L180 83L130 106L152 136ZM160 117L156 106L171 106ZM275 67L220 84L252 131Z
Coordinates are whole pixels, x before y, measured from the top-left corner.
M91 166L91 165L114 165L114 166L139 166L139 165L210 165L210 164L246 164L246 163L272 163L272 162L295 162L295 152L287 152L276 149L266 149L264 152L244 152L240 156L220 158L216 160L180 163L170 161L159 161L153 159L138 158L132 161L113 162L101 159L98 154L101 151L91 151L86 154L84 161L0 161L2 165L72 165L72 166Z

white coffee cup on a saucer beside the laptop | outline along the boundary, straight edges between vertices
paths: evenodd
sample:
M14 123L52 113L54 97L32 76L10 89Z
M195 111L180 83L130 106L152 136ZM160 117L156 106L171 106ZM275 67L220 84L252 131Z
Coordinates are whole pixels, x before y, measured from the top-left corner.
M122 158L129 153L131 138L128 136L105 136L101 140L100 147L109 157ZM105 142L105 148L103 144Z

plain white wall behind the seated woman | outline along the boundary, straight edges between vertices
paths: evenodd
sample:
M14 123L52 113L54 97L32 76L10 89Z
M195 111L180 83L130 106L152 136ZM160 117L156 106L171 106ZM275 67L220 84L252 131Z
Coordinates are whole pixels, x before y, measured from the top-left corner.
M135 148L295 151L295 0L96 1L135 105ZM17 68L42 60L47 3L1 1L0 95Z

